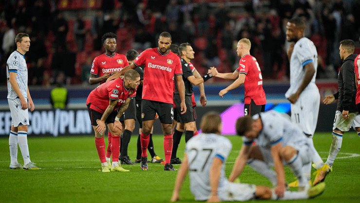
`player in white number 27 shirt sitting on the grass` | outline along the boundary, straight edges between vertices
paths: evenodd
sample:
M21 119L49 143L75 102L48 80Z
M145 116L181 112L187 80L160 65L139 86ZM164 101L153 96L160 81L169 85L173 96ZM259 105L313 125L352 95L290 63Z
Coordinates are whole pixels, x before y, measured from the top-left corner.
M232 148L229 139L219 136L221 118L216 113L207 113L201 119L201 134L186 143L184 160L176 178L172 202L179 200L179 192L189 170L190 190L197 201L248 201L251 199L295 200L313 198L324 191L324 183L307 191L285 191L277 196L266 186L231 183L225 176L225 162Z

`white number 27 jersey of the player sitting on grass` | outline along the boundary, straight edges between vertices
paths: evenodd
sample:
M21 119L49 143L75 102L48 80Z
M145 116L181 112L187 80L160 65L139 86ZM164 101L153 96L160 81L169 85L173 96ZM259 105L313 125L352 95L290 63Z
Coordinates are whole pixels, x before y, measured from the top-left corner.
M222 160L218 193L226 191L228 180L225 176L225 162L232 144L226 137L216 134L199 134L186 143L190 190L197 201L208 200L211 193L209 170L215 157Z

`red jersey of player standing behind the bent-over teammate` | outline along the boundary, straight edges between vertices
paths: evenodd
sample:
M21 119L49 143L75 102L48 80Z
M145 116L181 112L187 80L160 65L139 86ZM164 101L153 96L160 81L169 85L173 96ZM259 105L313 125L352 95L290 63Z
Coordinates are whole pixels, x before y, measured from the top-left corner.
M108 56L106 53L103 53L97 56L92 62L90 73L101 77L108 72L119 72L128 65L129 62L124 54L115 53L113 56ZM105 81L100 82L100 84L103 83L105 83Z

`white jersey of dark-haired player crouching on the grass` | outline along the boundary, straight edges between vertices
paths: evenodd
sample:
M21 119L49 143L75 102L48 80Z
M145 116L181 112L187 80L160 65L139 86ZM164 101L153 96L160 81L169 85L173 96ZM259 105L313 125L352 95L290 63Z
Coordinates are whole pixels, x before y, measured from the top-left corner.
M300 127L291 122L287 114L267 111L256 114L252 118L261 118L263 129L254 139L258 146L270 149L272 145L282 142L282 146L296 146L296 143L306 141L307 137ZM244 145L252 144L253 140L243 137Z

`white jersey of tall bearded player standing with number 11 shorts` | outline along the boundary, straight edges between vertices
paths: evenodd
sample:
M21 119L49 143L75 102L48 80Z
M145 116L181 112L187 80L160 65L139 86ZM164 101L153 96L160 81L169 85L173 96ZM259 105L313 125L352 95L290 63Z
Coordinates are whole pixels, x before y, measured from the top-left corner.
M303 82L305 77L304 66L308 63L314 64L315 74L304 91L316 87L315 78L318 68L318 52L316 51L314 43L310 39L303 37L295 43L294 50L290 57L290 88L285 94L286 98L294 94Z

